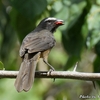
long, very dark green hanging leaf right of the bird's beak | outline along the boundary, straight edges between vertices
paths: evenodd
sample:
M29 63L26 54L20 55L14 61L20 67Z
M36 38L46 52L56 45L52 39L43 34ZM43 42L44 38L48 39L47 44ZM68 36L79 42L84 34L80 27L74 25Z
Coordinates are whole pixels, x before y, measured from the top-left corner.
M82 30L85 24L85 18L90 10L87 10L87 6L84 7L82 13L74 17L68 28L63 30L62 43L66 52L69 54L65 69L72 67L77 60L80 60L80 55L85 44L84 32Z

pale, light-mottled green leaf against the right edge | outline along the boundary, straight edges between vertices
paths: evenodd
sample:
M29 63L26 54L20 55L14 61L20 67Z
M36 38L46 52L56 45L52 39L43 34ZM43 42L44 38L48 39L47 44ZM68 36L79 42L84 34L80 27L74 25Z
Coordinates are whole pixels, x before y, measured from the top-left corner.
M91 8L88 16L88 30L87 47L93 48L100 40L100 7L95 5Z

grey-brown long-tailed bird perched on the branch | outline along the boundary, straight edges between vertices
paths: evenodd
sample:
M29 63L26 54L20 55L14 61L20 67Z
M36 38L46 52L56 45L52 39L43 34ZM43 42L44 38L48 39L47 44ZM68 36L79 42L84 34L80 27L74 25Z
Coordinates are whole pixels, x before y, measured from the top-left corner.
M22 58L19 73L15 80L15 88L18 92L29 91L32 88L35 70L40 58L52 71L55 69L47 59L51 49L55 46L56 40L53 33L64 25L64 21L54 17L44 18L37 27L27 34L20 46L19 55Z

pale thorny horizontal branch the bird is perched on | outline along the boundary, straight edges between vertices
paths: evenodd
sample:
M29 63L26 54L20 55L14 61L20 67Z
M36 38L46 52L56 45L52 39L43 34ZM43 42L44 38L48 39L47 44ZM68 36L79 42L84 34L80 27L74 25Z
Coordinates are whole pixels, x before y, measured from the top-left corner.
M0 71L0 78L16 78L18 71ZM95 81L100 80L100 73L83 73L73 71L36 71L36 78L63 78Z

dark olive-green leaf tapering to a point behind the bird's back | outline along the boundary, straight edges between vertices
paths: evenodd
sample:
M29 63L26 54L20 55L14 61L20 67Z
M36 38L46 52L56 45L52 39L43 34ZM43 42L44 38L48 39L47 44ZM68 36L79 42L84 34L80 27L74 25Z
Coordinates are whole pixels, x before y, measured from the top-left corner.
M20 42L23 40L26 34L32 31L35 27L36 20L34 20L33 23L32 20L29 20L28 18L24 17L23 15L18 13L14 8L12 8L10 12L10 18L12 26L17 31L17 35Z

